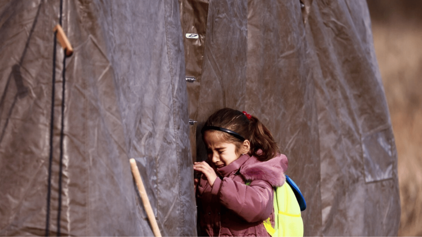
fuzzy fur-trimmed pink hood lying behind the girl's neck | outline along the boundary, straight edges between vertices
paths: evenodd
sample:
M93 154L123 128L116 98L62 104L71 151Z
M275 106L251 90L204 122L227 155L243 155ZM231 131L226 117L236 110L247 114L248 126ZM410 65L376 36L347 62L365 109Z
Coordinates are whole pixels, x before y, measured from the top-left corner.
M265 180L274 187L284 184L287 170L287 157L283 154L265 162L260 162L252 156L240 168L240 173L246 180Z

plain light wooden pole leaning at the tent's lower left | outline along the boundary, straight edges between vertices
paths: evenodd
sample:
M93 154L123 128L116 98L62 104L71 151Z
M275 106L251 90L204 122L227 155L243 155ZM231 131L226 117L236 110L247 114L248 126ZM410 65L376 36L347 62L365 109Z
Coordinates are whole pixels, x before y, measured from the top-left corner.
M151 223L152 232L154 236L160 237L160 229L158 229L157 221L155 220L154 212L152 211L151 203L149 203L148 196L146 195L145 187L143 186L141 174L139 174L138 166L136 165L135 159L131 158L130 169L132 170L133 178L135 178L136 186L138 186L139 194L143 202L143 207L145 208L146 215L148 215L149 222Z

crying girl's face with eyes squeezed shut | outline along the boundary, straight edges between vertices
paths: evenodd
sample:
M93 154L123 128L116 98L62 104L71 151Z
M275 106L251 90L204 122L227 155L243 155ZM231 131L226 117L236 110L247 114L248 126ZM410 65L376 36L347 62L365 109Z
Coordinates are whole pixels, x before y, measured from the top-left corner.
M203 138L208 160L214 164L214 169L231 164L241 155L241 151L236 152L235 143L227 142L220 131L207 130L204 132Z

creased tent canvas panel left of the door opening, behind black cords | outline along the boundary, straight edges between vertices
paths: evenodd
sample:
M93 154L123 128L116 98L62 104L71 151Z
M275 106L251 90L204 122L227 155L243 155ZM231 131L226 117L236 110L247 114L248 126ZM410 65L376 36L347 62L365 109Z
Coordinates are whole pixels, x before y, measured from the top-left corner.
M59 3L0 3L1 236L45 234ZM152 236L130 171L135 158L162 235L196 235L178 2L64 1L63 29L74 53L65 65L61 234ZM58 46L51 235L57 230L62 59Z

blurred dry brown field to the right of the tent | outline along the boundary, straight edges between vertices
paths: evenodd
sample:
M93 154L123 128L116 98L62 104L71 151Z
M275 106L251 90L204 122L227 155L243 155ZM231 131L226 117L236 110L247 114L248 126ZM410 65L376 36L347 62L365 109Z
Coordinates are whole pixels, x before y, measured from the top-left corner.
M422 0L367 0L398 152L399 236L422 236Z

